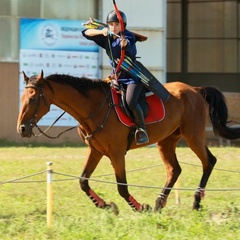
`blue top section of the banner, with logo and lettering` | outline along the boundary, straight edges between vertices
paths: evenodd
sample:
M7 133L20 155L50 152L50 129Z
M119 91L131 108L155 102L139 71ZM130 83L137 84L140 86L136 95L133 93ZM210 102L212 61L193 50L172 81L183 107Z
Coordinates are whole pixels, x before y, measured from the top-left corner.
M20 19L20 48L98 52L99 47L82 36L84 21Z

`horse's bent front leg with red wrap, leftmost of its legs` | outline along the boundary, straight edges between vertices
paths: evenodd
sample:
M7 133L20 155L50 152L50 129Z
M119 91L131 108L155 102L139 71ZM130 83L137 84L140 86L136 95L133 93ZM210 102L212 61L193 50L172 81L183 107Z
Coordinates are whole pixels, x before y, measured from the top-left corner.
M92 202L95 204L98 208L104 208L104 209L112 209L114 214L118 214L117 206L114 203L107 204L101 197L99 197L89 186L88 179L94 172L95 168L97 167L99 161L103 157L103 155L90 147L88 148L89 153L88 157L85 162L85 166L83 169L83 173L81 175L81 178L79 180L81 189L86 193L86 195L92 200Z

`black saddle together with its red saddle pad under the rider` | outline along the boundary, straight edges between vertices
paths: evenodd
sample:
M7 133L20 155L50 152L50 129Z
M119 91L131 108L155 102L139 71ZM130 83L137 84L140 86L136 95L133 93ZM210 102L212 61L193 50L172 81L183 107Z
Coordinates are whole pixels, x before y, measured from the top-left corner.
M132 114L126 103L125 89L121 85L111 83L111 94L120 122L128 127L135 126ZM162 100L147 89L142 92L138 103L142 108L146 125L160 122L165 118L165 107Z

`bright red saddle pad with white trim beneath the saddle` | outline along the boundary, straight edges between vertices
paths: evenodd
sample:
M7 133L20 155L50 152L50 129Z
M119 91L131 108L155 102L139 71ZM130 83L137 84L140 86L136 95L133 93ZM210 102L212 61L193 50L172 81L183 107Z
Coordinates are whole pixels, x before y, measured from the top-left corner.
M134 126L135 123L122 111L122 108L120 107L120 94L116 91L115 88L112 88L111 92L114 108L119 120L128 127ZM162 121L165 117L165 107L162 100L154 94L151 94L146 98L148 102L149 113L145 118L145 124Z

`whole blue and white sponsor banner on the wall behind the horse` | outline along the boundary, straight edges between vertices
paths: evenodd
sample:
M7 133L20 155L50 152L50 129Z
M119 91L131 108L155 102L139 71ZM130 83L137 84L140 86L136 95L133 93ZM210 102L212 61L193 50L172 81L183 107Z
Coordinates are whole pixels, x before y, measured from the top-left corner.
M19 70L27 76L68 74L97 79L100 77L99 47L82 36L85 21L57 19L20 19ZM20 96L25 88L23 75L19 80ZM55 105L39 125L49 126L62 113ZM75 119L65 114L56 126L77 125Z

